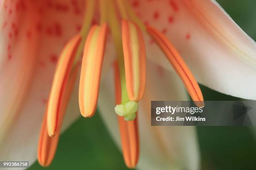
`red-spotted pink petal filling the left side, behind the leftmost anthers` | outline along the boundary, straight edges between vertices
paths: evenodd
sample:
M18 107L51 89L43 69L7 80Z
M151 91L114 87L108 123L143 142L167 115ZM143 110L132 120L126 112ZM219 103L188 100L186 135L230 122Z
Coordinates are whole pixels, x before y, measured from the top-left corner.
M79 32L84 1L77 1L79 14L69 0L2 2L0 24L7 25L0 35L0 160L29 160L32 165L56 60L65 42ZM77 97L73 100L64 127L79 115Z

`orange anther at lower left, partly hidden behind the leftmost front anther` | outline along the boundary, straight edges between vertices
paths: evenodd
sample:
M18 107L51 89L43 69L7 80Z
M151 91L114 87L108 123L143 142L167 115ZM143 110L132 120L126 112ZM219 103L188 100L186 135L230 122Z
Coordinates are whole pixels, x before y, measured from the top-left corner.
M78 65L74 68L67 85L67 88L64 92L64 100L63 104L61 105L61 116L60 116L60 126L62 124L64 114L67 108L67 104L69 102L70 96L72 94L72 90L75 84L75 80L77 80L77 73L78 73ZM47 111L47 109L46 109ZM49 137L47 132L47 125L46 125L46 116L47 112L44 115L42 127L41 127L41 133L39 136L39 142L38 142L38 152L37 152L37 158L40 165L47 167L51 164L55 151L58 145L59 141L59 135L60 130L57 130L56 134L53 137Z

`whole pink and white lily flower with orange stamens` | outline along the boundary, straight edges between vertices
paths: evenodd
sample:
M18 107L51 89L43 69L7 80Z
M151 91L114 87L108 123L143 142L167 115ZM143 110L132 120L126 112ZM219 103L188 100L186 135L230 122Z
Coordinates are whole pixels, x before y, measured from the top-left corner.
M219 92L255 99L255 42L214 0L95 2L0 2L0 160L32 163L38 154L49 165L61 129L78 117L79 98L84 117L99 102L128 167L139 160L141 169L198 169L194 128L151 127L150 101L186 100L185 86L203 105L193 75ZM172 67L177 73L166 70Z

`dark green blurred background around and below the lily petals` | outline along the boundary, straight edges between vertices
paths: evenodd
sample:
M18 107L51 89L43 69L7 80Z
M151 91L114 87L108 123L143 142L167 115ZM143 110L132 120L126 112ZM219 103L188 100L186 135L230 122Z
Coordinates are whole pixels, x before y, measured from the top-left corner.
M256 40L256 0L217 0ZM239 100L201 85L205 100ZM197 127L202 170L255 170L256 134L249 127ZM98 113L79 118L59 140L48 168L37 162L29 170L125 170L123 157Z

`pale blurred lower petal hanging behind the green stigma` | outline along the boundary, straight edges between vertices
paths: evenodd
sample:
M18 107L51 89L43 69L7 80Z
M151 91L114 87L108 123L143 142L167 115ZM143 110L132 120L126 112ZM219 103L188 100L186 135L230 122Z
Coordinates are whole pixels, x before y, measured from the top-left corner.
M100 113L120 148L118 122L114 111L113 72L110 72L102 82L99 97ZM148 62L146 91L139 103L138 112L141 142L138 168L197 170L199 155L195 129L151 126L151 100L187 100L187 94L176 74Z

